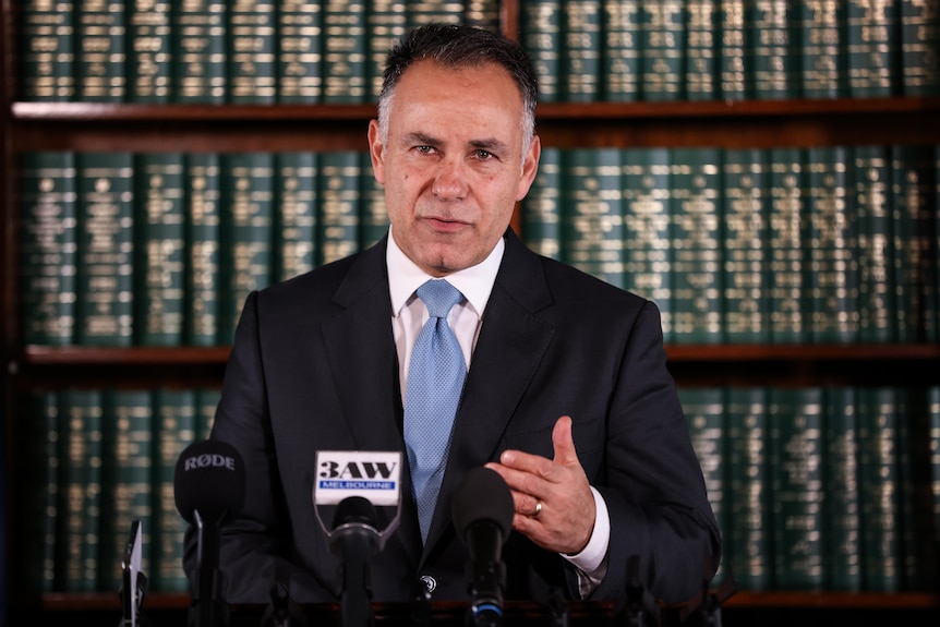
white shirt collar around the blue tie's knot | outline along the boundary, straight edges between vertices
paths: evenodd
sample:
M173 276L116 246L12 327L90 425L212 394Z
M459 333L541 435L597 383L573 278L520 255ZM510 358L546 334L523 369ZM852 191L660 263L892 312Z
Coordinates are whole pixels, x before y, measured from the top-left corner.
M496 273L503 261L503 252L506 242L503 238L496 242L490 255L475 266L447 275L450 285L460 290L468 304L479 317L483 317L493 284L496 281ZM408 304L408 300L414 294L414 290L421 287L431 277L419 268L414 262L395 243L395 233L388 229L388 248L385 250L385 263L388 266L388 289L391 297L391 315L398 317L401 309Z

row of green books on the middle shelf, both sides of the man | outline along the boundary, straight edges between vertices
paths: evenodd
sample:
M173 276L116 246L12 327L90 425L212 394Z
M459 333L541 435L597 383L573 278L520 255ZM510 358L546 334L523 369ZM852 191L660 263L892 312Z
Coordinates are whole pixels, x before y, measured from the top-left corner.
M28 345L226 346L244 297L387 230L367 154L22 155ZM545 148L522 239L672 343L935 342L940 147Z

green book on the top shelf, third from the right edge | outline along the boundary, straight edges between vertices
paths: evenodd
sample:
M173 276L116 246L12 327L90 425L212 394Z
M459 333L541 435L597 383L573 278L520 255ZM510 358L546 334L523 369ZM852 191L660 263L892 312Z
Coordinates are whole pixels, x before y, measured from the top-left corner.
M845 43L841 0L802 2L799 21L800 94L804 98L839 98L846 93Z

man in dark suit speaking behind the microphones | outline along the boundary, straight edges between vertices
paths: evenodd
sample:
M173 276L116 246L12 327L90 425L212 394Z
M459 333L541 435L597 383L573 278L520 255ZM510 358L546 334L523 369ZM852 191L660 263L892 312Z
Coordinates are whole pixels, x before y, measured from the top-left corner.
M389 53L369 126L389 234L244 305L212 435L248 477L221 539L228 601L266 602L275 577L298 601L336 599L339 563L311 501L316 450L408 459L399 529L372 562L376 600L408 601L419 580L434 600L468 599L450 507L484 465L513 493L508 599L616 599L634 564L652 596L680 602L714 572L718 527L655 305L535 255L508 228L538 167L535 97L521 48L483 31L427 26ZM429 313L415 289L443 277L460 292L443 315L466 381L429 470L433 515L419 520L427 459L408 379ZM192 534L188 548L194 577Z

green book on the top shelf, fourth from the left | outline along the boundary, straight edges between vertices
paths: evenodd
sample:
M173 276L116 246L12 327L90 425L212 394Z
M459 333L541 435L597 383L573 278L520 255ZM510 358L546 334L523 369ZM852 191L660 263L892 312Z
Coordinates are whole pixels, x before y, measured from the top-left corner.
M171 62L176 103L226 101L227 8L226 0L189 0L174 7Z

